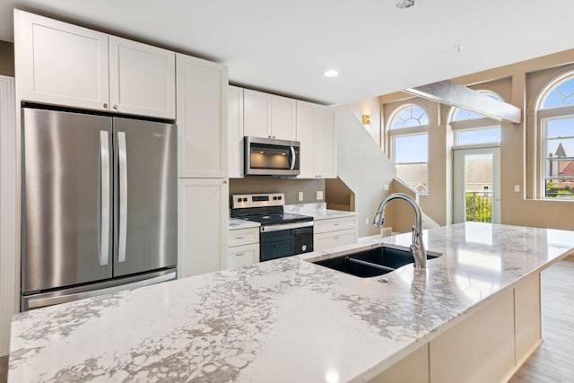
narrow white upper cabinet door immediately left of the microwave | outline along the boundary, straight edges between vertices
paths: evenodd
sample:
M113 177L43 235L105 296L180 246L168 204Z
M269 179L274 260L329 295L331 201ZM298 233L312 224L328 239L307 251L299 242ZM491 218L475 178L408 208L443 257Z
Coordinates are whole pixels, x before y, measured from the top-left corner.
M227 126L229 135L229 175L242 178L243 169L243 89L228 87Z

